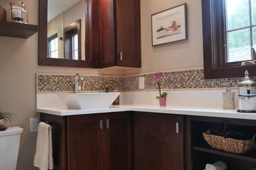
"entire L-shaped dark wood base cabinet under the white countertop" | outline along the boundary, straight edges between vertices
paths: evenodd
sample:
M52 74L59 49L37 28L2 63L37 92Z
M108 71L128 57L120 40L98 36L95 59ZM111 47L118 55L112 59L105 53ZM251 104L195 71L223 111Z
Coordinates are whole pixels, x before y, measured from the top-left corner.
M209 126L256 134L255 120L112 112L78 116L41 113L52 125L54 170L198 170L223 160L228 169L256 167L256 150L232 154L203 139Z

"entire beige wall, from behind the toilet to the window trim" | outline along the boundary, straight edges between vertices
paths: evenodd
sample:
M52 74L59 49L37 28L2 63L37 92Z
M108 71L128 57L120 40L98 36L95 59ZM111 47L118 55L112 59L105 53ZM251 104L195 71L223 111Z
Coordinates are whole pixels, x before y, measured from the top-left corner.
M29 23L38 23L38 1L24 0ZM37 65L37 33L29 39L0 37L0 110L17 114L13 126L24 128L18 156L18 170L33 167L37 133L29 132L29 118L39 116L35 112L35 73L83 73L122 75L173 69L188 69L203 66L202 16L200 0L187 0L188 41L162 46L151 46L151 14L174 7L184 1L141 0L142 68L131 71L108 69L83 69L47 67ZM0 5L9 9L9 1L0 0Z

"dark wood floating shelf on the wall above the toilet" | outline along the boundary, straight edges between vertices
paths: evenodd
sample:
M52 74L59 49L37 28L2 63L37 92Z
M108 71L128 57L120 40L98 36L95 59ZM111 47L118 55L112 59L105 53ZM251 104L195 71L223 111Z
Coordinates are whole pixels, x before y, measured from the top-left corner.
M0 20L0 36L28 39L37 32L37 25L20 24Z

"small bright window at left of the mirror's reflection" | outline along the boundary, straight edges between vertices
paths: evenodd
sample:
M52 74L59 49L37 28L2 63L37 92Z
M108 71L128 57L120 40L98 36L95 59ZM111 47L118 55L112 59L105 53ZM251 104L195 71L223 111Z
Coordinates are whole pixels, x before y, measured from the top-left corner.
M48 57L58 58L58 34L48 38Z

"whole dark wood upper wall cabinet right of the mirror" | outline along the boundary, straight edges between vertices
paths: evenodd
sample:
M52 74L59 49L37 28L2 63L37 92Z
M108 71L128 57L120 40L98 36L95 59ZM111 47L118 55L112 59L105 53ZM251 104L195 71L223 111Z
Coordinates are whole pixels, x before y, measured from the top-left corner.
M100 1L99 67L140 67L140 0Z

